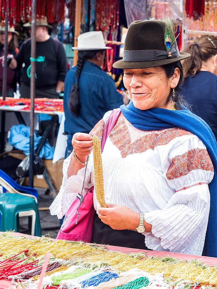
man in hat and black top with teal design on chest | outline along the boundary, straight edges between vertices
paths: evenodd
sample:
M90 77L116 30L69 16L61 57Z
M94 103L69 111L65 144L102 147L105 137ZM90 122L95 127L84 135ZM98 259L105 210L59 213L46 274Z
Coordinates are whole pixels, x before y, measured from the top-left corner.
M31 22L23 26L30 27ZM48 34L47 18L36 20L36 97L59 98L64 86L67 73L66 53L62 43L53 39ZM23 42L18 55L9 55L12 59L9 64L11 69L19 70L23 63L23 74L21 78L21 97L30 97L30 57L31 38Z

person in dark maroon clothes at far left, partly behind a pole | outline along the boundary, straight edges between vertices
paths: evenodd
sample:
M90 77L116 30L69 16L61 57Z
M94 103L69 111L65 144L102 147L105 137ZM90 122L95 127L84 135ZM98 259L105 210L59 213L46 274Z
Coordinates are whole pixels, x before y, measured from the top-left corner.
M16 55L18 53L18 41L14 27L8 26L8 54ZM0 57L4 55L4 42L5 42L5 27L0 27ZM2 94L2 81L3 81L3 67L0 64L0 96ZM7 71L7 86L6 96L14 97L16 90L16 74L15 71L8 67Z

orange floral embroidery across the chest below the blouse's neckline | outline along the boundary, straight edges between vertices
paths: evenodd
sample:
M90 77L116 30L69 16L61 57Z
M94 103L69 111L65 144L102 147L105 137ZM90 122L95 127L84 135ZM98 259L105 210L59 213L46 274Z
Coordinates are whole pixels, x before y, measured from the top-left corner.
M109 138L119 149L122 158L125 158L133 153L142 153L148 149L154 150L155 147L168 144L179 136L191 134L189 131L180 128L142 131L133 127L123 114L120 114L114 129L109 134Z

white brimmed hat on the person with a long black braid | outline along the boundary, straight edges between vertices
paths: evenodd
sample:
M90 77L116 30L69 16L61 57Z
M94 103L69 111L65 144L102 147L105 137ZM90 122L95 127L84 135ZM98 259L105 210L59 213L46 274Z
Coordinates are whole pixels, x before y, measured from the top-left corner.
M99 50L111 49L105 46L102 31L90 31L78 36L78 47L72 47L74 50Z

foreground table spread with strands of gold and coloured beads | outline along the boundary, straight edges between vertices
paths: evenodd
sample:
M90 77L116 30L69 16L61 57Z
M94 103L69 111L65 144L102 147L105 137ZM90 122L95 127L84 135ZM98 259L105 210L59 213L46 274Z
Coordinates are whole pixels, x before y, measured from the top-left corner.
M71 265L69 266L70 269L72 269L73 266L76 267L77 268L76 270L78 270L78 271L81 270L81 268L83 268L82 270L88 270L87 268L91 268L90 269L91 272L89 272L88 274L95 274L95 275L98 274L99 272L101 275L103 275L103 274L105 274L105 272L107 272L108 274L116 275L116 277L112 277L113 278L112 280L114 280L114 281L118 281L118 279L114 279L114 278L120 278L120 279L121 279L121 277L122 278L123 277L129 278L129 276L131 276L130 274L137 274L139 279L141 279L141 278L145 279L146 278L146 281L148 280L146 282L146 285L144 285L144 286L147 286L147 288L152 288L153 286L157 286L155 288L158 288L160 286L160 287L162 287L162 289L163 288L164 289L172 288L172 287L176 288L176 284L173 286L168 285L168 284L173 284L171 282L174 280L177 283L181 282L180 284L183 284L183 286L184 286L184 284L186 284L186 286L188 283L191 284L191 286L189 288L191 288L191 287L194 288L194 286L196 286L196 288L200 288L203 285L203 289L205 289L205 288L208 289L208 288L210 288L211 285L212 285L211 287L216 287L215 284L217 283L217 279L215 279L217 277L217 269L214 268L214 266L217 264L217 258L213 258L213 257L186 255L186 254L178 254L178 253L171 253L171 252L168 253L165 251L150 251L150 250L131 249L131 248L115 247L115 246L106 246L106 249L104 249L102 245L97 245L99 247L96 247L96 246L94 247L93 244L87 244L87 243L86 244L85 243L80 244L78 242L71 244L71 243L66 242L64 240L54 240L54 239L49 239L49 243L46 243L45 238L40 239L39 237L23 235L20 233L13 233L12 236L13 236L13 238L7 237L8 238L8 248L2 247L2 242L5 242L6 237L5 236L0 237L0 252L1 252L1 254L2 253L5 254L5 252L11 250L11 248L14 246L14 237L23 236L23 237L27 238L26 241L25 241L25 239L17 239L16 243L21 242L22 246L20 246L20 250L23 250L23 249L25 249L25 242L26 242L26 246L29 249L29 253L28 253L29 255L32 254L33 252L36 252L37 256L40 257L40 254L41 254L40 252L42 252L42 251L45 252L47 250L47 251L50 251L53 254L53 256L56 258L60 258L60 256L62 256L63 260L66 260L64 262L67 262L67 260L69 260L69 261L72 260L70 263ZM28 239L29 237L31 237L33 239ZM34 241L34 240L36 240L36 241ZM34 242L33 245L30 245L30 242L32 242L32 243ZM49 247L49 249L43 249L44 244L47 245ZM52 247L52 244L53 244L53 247ZM58 247L59 245L62 246L62 250L60 250L60 251L58 251L57 249L54 250L54 247L55 246ZM88 245L90 245L90 246L88 246ZM31 247L31 246L33 246L33 247ZM66 247L71 248L71 250L68 250ZM65 251L67 251L67 253L64 253ZM89 251L92 253L88 253ZM120 252L120 253L117 253L117 252ZM139 257L137 259L135 256L136 256L136 254L141 253L141 252L145 253L146 257L139 260ZM134 256L126 255L127 253L131 253L131 254L134 253ZM153 256L153 258L151 258L152 256ZM175 259L173 259L172 261L167 260L166 262L165 262L165 258L164 258L164 261L162 261L163 259L159 260L160 257L166 257L166 256L169 256L169 258L167 258L167 259L171 259L171 258L175 258ZM93 258L92 264L98 264L97 265L98 268L91 267L92 265L90 265L90 263L91 263L90 260L92 258ZM110 263L108 263L108 259L110 260L109 261ZM55 259L55 260L60 260L60 259ZM55 261L55 260L53 260L53 261ZM125 260L128 260L128 261L125 261ZM182 260L183 261L192 260L192 261L191 262L182 262ZM197 260L199 260L199 261L197 261ZM104 262L103 267L101 267L102 262ZM157 265L155 265L155 267L153 265L152 266L149 265L149 267L147 267L147 264L151 264L151 262L152 263L155 262ZM208 266L205 266L204 264L202 264L202 262L204 262ZM89 265L86 265L86 266L83 265L83 267L82 267L82 264L84 264L84 263L89 264ZM132 264L135 263L135 264L133 265L133 268L131 268L129 270L129 269L127 269L127 267L130 266L130 263L132 263ZM0 262L0 265L1 265L1 262ZM142 267L141 267L141 265L142 265ZM165 266L164 269L162 269L160 267L161 265ZM62 265L62 266L68 266L68 265ZM156 266L158 266L158 268ZM174 267L175 270L174 270L174 268L171 269L170 268L171 266L176 266L176 267ZM184 266L189 266L189 269L188 269L189 272L183 269L183 271L180 271L182 276L185 276L186 274L191 273L190 270L195 272L195 268L197 270L198 269L201 270L201 272L203 274L205 274L204 272L208 270L208 271L212 271L212 273L209 274L209 278L211 278L211 275L212 275L213 279L212 278L211 279L215 280L214 283L212 283L212 284L209 283L209 286L206 286L205 284L202 284L203 282L201 282L201 281L195 281L194 279L197 279L197 274L199 274L199 273L197 273L197 274L194 273L194 275L192 275L193 276L192 279L185 279L183 277L179 277L179 275L177 275L178 276L177 277L175 275L175 272L177 273L177 270L179 270L180 268L181 269L184 268ZM212 266L212 267L209 267L209 266ZM51 275L52 271L50 271L50 273L49 273L49 271L47 271L47 273L49 273L49 275L47 275L47 277L44 277L44 279L43 279L43 282L45 282L44 284L47 284L46 282L49 278L50 278L49 280L51 280L53 282L53 283L51 282L52 284L50 284L51 287L47 287L47 288L58 288L58 286L56 287L56 285L55 285L56 284L55 278L57 278L58 276L59 277L63 276L62 274L64 274L64 272L69 272L69 271L67 271L68 268L64 269L65 271L61 271L61 270L58 271L55 269L54 272L56 272L56 273L53 273L52 275ZM147 270L147 268L148 268L148 270ZM168 269L168 268L170 268L170 269ZM97 271L97 273L94 272L93 270ZM170 274L171 274L170 280L165 279L165 278L169 277L167 270L170 270ZM1 271L1 269L0 269L0 271ZM31 271L28 271L28 272L31 272ZM70 272L71 272L71 274L73 274L74 271L71 270ZM70 274L70 272L67 274ZM118 275L115 272L117 272ZM21 273L21 276L22 276L22 274L23 273ZM28 275L29 273L26 273L26 274ZM65 275L67 275L67 274L65 274ZM85 274L87 274L87 272ZM84 279L85 274L79 275L79 276L81 276L81 278ZM23 276L25 276L25 273ZM39 276L39 275L37 275L37 276ZM88 275L86 275L86 276L88 276ZM97 276L99 276L99 275L97 275ZM143 277L141 277L141 276L143 276ZM198 276L200 276L200 274ZM73 280L77 279L77 277L73 277L74 279L69 279L69 277L67 277L67 278L68 279L65 279L66 283L72 282ZM88 278L89 278L88 282L90 282L91 278L93 279L94 277L88 277ZM97 278L99 280L99 277L97 277ZM135 280L135 278L137 278L137 277L134 277L134 279L132 279L132 280ZM137 282L138 282L138 278L136 279ZM200 279L202 277L198 277L198 278L199 278L199 280L202 280L202 279ZM206 280L208 280L207 278L208 278L207 276L203 277L203 279L205 280L205 283L207 282ZM33 282L33 283L35 282L34 283L35 286L33 286L33 287L31 286L31 288L37 288L37 282L39 281L39 279L40 279L40 277L37 277L34 279L36 281L34 281L33 279L32 279L33 281L31 281L31 280L28 281L28 282ZM16 278L15 278L15 280L16 280ZM87 282L87 281L83 281L83 282ZM102 284L104 284L103 281L101 281L101 282L102 282ZM111 281L106 280L106 284L109 284L109 282L111 282ZM127 283L127 282L128 281L126 281L125 283ZM131 282L133 282L133 281L131 281ZM58 283L58 284L60 284L60 283ZM62 283L62 284L65 284L65 283ZM179 284L179 286L180 286L180 284ZM31 283L31 285L32 285L32 283ZM82 283L82 286L80 286L80 288L84 288L84 287L86 288L87 287L83 283ZM88 286L90 286L90 284ZM141 286L141 287L144 287L144 286ZM10 280L8 280L6 277L3 277L2 279L0 279L0 289L1 288L2 289L3 288L9 288L9 287L13 288ZM141 288L141 287L137 287L137 289ZM29 287L25 287L25 288L29 288ZM69 288L76 288L76 286L75 287L69 286ZM110 287L109 286L104 287L103 285L101 285L100 288L110 288ZM136 287L132 286L131 288L136 288ZM179 288L182 288L182 287L179 287Z

